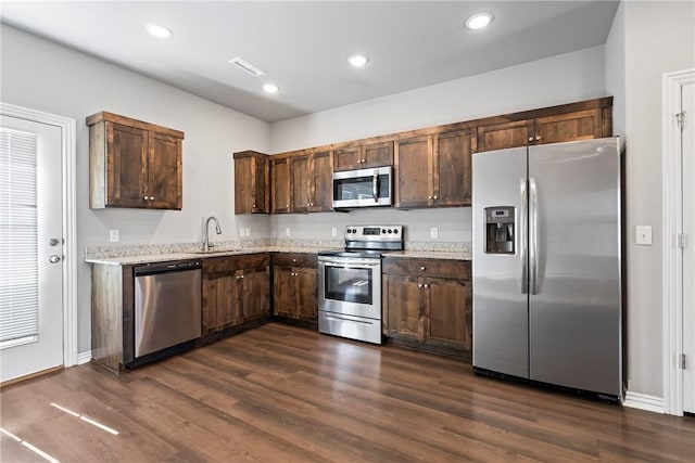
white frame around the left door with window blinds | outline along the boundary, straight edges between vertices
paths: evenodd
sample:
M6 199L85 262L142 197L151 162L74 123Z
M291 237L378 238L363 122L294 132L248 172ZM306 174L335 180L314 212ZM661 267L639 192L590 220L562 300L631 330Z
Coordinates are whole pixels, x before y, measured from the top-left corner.
M75 119L0 102L0 114L61 129L63 203L63 366L77 364L77 221Z

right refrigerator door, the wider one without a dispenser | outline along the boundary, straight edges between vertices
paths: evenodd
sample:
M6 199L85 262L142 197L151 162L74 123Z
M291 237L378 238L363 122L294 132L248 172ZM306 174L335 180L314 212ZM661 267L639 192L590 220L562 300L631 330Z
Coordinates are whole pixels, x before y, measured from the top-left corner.
M529 149L530 377L621 396L617 138Z

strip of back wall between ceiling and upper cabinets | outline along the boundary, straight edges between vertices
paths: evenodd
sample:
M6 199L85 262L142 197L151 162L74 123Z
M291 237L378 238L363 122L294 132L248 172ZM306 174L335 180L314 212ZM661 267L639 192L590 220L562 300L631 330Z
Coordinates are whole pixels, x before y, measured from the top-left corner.
M273 153L606 97L604 47L273 125Z

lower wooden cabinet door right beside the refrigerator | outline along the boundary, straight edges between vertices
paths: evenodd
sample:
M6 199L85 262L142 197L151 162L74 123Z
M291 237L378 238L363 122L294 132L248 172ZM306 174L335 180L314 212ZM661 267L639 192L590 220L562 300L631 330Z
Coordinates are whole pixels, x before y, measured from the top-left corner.
M425 340L470 351L471 286L463 280L426 279Z

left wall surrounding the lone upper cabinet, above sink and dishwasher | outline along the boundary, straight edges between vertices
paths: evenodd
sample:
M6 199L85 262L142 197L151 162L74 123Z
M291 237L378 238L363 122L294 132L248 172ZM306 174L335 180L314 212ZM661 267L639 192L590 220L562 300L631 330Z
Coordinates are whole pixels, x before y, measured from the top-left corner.
M85 246L108 243L110 229L119 229L126 244L198 241L203 217L210 215L220 219L225 232L222 240L237 239L231 153L250 147L267 150L268 124L4 24L1 42L2 101L77 121L80 260ZM186 133L181 211L89 209L85 117L102 110ZM247 220L260 234L267 234L267 220ZM91 348L90 275L86 263L79 265L77 280L78 350L84 352Z

